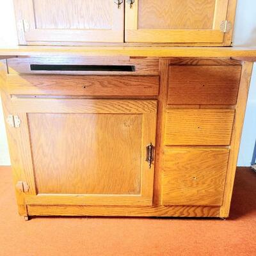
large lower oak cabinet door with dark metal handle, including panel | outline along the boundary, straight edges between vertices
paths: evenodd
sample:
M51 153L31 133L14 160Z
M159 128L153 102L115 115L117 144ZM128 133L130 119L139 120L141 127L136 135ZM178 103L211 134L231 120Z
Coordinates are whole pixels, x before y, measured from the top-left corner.
M26 204L151 205L156 100L13 99Z

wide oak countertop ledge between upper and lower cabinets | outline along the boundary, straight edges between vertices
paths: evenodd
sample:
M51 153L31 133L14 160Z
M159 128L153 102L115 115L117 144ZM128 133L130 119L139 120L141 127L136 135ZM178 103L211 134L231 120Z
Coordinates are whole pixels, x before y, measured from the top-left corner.
M256 61L256 47L67 47L67 46L17 46L1 48L0 56L129 56L129 57L198 57L243 58Z

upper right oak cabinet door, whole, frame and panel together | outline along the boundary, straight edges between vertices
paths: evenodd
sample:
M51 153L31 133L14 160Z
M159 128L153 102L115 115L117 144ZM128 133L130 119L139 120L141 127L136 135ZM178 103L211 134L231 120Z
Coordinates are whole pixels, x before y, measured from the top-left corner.
M125 42L231 43L236 0L128 0ZM225 20L230 22L225 22ZM222 26L221 26L222 24ZM225 28L229 30L225 35Z

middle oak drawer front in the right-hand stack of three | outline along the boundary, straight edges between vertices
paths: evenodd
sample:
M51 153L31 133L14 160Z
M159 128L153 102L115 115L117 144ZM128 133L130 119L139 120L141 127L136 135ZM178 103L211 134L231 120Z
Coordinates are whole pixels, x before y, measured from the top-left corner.
M234 109L168 109L164 145L230 145Z

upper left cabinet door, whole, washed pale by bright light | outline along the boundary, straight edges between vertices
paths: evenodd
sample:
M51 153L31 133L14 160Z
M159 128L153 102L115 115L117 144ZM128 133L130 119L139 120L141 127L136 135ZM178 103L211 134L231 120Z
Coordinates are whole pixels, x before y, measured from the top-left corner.
M19 44L124 42L124 3L121 2L14 0Z

